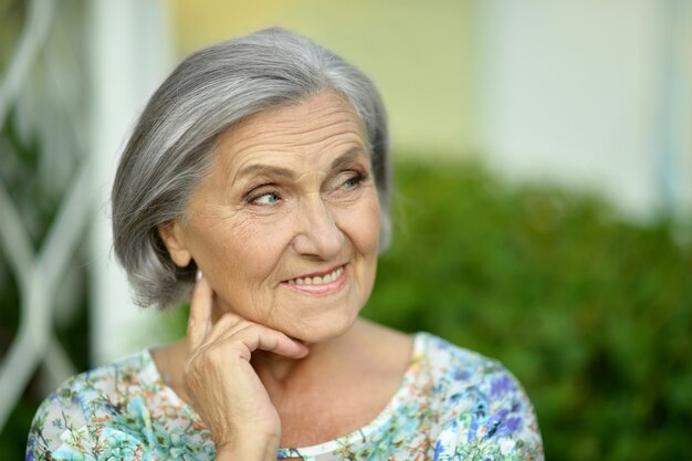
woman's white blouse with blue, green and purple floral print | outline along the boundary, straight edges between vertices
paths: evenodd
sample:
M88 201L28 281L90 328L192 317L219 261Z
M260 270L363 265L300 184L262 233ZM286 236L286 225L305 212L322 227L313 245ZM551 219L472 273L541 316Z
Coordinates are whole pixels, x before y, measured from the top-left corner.
M428 333L415 336L403 379L369 425L277 458L543 460L532 405L497 362ZM69 379L39 408L27 460L206 461L209 431L159 375L148 350Z

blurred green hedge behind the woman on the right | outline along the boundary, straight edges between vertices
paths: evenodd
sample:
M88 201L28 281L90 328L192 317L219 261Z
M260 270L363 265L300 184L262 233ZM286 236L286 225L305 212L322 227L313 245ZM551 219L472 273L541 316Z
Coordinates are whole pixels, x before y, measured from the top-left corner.
M501 359L554 460L692 450L692 252L594 198L478 166L397 165L394 244L364 314Z

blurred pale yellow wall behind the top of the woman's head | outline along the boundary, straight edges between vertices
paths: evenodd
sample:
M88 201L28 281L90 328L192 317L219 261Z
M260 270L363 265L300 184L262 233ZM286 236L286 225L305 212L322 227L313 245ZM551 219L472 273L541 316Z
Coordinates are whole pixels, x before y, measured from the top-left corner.
M363 69L389 111L397 150L463 154L473 133L473 10L466 0L176 0L180 56L282 25Z

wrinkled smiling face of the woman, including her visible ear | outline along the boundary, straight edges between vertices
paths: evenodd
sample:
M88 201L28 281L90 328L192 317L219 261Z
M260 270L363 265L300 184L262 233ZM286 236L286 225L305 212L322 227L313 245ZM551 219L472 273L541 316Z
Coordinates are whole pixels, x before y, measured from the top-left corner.
M337 93L251 116L221 135L187 219L161 229L221 312L316 343L370 295L380 207L365 128Z

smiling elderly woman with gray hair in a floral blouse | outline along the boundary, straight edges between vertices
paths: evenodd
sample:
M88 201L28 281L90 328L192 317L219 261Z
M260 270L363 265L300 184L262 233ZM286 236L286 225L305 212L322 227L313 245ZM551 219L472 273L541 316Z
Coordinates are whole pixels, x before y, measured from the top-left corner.
M67 380L36 460L543 459L496 362L358 317L389 239L380 97L281 29L188 57L151 97L113 189L115 253L187 336Z

